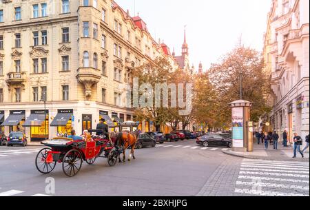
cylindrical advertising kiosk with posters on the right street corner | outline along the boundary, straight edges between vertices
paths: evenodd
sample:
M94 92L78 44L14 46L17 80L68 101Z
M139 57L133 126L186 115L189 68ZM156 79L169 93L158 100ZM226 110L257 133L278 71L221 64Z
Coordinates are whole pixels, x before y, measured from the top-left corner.
M232 119L232 151L253 151L253 130L249 127L252 103L238 100L230 103ZM251 132L252 131L252 132Z

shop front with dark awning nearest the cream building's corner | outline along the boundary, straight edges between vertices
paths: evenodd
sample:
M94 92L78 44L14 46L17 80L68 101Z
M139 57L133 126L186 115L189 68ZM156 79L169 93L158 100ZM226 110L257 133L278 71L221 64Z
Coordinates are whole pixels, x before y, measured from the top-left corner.
M72 117L73 109L58 109L58 112L52 123L51 127L57 127L57 136L70 135L72 130Z

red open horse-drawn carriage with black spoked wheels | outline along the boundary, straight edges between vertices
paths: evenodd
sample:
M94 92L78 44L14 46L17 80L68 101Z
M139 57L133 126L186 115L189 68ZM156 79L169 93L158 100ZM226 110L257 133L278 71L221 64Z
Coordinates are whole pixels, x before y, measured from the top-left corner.
M89 130L96 133L97 130ZM114 166L120 151L105 139L105 136L92 135L87 140L72 140L71 138L53 138L43 142L46 148L41 149L36 156L35 165L42 174L49 174L61 163L66 176L79 173L83 160L88 165L94 164L96 158L107 158L110 166Z

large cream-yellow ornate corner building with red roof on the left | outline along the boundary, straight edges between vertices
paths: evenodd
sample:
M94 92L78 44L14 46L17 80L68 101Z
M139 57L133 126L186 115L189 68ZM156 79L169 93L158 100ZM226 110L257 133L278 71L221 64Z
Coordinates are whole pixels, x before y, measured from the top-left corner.
M143 62L174 57L112 0L0 1L0 128L28 140L134 120L124 85ZM45 107L44 107L45 106Z

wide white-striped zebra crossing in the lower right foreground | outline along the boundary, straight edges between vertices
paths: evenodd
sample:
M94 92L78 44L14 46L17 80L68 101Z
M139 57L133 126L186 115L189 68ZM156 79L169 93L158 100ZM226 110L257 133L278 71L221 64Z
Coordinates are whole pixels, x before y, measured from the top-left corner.
M309 196L309 162L242 160L237 195Z

